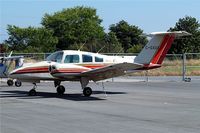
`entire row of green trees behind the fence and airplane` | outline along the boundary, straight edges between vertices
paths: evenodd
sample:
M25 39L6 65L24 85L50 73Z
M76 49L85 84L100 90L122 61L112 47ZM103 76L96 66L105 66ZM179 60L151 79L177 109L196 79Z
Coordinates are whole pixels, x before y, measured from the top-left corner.
M83 50L101 53L137 53L147 43L147 37L138 26L125 20L111 24L105 33L102 19L96 9L77 6L54 14L45 14L41 27L21 28L8 25L9 37L4 41L15 52L54 52L56 50ZM200 23L191 16L180 18L169 31L184 30L190 37L178 39L170 53L200 52Z

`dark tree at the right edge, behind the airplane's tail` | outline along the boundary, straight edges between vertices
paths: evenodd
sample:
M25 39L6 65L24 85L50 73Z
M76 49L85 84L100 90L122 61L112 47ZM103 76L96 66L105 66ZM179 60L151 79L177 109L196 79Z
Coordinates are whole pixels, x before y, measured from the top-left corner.
M187 31L192 36L177 39L172 44L169 53L199 53L200 52L200 23L196 18L186 16L180 18L169 31Z

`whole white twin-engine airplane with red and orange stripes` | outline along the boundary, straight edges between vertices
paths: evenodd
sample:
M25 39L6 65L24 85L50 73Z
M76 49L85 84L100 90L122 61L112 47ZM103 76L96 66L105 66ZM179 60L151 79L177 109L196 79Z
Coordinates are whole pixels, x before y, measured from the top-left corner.
M36 95L36 83L52 80L57 93L63 94L62 81L80 81L84 96L90 96L87 87L90 80L96 82L129 72L144 71L161 67L161 64L176 37L188 36L185 31L153 32L146 46L136 57L107 56L98 53L63 50L51 54L46 61L15 69L10 77L34 84L29 95Z

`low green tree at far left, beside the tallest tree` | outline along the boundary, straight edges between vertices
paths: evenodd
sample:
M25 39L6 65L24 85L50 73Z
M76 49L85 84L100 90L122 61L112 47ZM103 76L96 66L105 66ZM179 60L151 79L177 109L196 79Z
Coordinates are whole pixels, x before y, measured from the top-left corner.
M20 52L52 52L57 38L45 28L19 28L8 25L9 38L5 41L11 50Z

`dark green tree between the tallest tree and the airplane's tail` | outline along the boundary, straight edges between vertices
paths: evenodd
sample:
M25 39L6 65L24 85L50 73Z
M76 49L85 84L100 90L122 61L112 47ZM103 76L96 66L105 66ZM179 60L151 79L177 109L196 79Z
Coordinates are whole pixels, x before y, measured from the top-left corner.
M143 31L137 26L129 25L124 20L117 24L112 24L109 30L115 33L117 39L122 44L125 53L128 52L128 49L132 48L134 45L144 46L147 43L146 37L141 36Z

